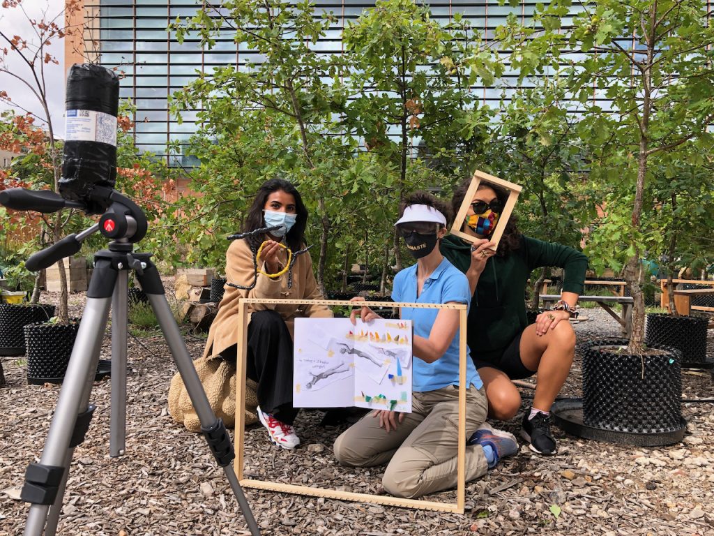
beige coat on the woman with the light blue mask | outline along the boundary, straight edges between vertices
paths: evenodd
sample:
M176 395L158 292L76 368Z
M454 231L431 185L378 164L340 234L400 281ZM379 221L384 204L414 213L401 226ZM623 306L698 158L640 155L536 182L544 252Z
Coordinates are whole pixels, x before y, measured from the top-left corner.
M287 262L287 254L281 249L282 264ZM259 268L262 268L258 264ZM226 252L226 279L229 283L240 284L248 287L253 282L253 252L248 247L247 240L236 240L228 247ZM258 274L256 286L251 290L228 287L223 299L218 305L218 314L211 324L206 341L203 357L216 356L226 348L238 344L238 299L240 298L293 298L293 299L323 299L318 289L315 275L312 270L312 259L309 253L298 255L293 264L293 286L288 289L288 274L271 279L263 274ZM324 317L331 318L332 311L324 305L296 306L289 304L251 304L248 312L273 309L280 313L293 333L295 317ZM250 315L248 315L250 322Z

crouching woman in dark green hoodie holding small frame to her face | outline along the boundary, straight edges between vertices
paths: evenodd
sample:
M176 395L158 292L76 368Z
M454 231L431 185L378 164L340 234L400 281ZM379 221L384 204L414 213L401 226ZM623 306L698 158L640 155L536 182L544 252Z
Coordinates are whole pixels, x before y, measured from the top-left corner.
M451 200L454 213L461 207L469 179ZM468 347L486 387L489 415L512 419L521 407L521 395L512 379L538 373L531 410L523 415L521 435L531 450L542 455L557 452L550 435L550 407L563 387L575 354L574 316L583 292L588 258L576 249L526 237L512 217L494 253L489 237L498 223L508 192L481 184L471 199L461 229L476 238L472 245L453 235L441 241L441 252L466 274L473 292L468 313ZM563 293L552 310L526 319L526 283L533 269L563 268Z

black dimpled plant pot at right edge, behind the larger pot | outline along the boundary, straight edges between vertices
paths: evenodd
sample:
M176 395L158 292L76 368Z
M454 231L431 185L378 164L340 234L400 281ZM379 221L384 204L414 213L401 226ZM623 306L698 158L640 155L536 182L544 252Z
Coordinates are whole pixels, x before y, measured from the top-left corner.
M671 314L648 314L645 328L647 344L665 344L682 352L682 367L697 367L707 362L706 317L675 317Z

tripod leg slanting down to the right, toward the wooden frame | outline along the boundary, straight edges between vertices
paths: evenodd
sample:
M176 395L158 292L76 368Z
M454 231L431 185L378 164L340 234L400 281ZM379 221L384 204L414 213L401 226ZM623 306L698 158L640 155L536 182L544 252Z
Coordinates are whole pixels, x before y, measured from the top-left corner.
M218 465L223 467L223 472L226 474L226 478L233 489L233 495L236 495L243 517L246 518L248 529L253 536L259 536L260 529L253 517L251 507L248 505L248 500L243 495L243 489L231 464L233 458L236 457L231 444L231 436L228 435L228 430L223 425L223 421L216 417L216 414L211 410L211 405L208 404L208 398L206 398L206 392L203 390L201 380L198 379L196 367L193 366L191 355L188 354L186 343L183 342L181 332L178 330L169 302L166 301L164 285L161 284L159 272L154 264L147 264L144 274L137 274L141 289L149 297L149 303L154 309L156 318L159 319L159 326L161 326L161 331L164 332L166 344L169 344L169 349L171 349L178 372L181 374L183 384L186 386L188 396L191 398L191 403L196 410L198 420L201 421L201 431L206 436L208 446L211 447L211 452L213 452Z

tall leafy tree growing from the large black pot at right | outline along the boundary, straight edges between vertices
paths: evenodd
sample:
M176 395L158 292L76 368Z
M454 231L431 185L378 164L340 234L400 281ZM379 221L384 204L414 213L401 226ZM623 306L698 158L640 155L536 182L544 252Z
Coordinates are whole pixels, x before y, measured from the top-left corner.
M645 307L641 259L661 236L651 219L653 169L668 152L692 144L707 153L714 121L714 28L703 0L593 0L560 33L567 0L538 4L540 29L515 18L501 31L513 46L521 78L544 65L565 70L573 100L583 109L578 132L590 146L590 181L600 186L606 214L593 232L593 264L623 268L634 299L630 354L642 354ZM588 54L560 67L560 49ZM610 101L603 109L593 97Z

